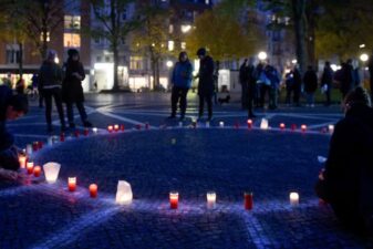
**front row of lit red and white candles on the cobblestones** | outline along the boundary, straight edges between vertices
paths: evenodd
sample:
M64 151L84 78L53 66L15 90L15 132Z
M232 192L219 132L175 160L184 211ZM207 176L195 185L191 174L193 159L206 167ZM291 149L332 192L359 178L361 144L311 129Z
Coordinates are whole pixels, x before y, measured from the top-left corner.
M20 162L22 162L21 167L23 168L24 159L20 158ZM43 165L44 175L46 183L53 184L56 181L59 173L60 173L61 165L58 163L48 163ZM34 166L32 162L25 163L25 169L29 175L33 175L34 177L41 176L41 167ZM69 191L75 191L76 190L76 177L69 177L68 178L68 189ZM91 198L96 198L99 193L99 186L96 184L91 184L89 187L90 196ZM253 195L252 193L245 193L244 194L244 208L246 210L251 210L253 208ZM292 206L297 206L299 204L299 194L298 193L290 193L290 204ZM117 191L116 191L116 203L122 205L129 205L133 200L133 193L131 185L125 180L120 180L117 185ZM207 207L208 208L215 208L216 200L217 200L217 194L215 191L208 191L206 194L207 199ZM177 191L170 191L169 193L169 206L170 209L177 209L179 203L179 194Z

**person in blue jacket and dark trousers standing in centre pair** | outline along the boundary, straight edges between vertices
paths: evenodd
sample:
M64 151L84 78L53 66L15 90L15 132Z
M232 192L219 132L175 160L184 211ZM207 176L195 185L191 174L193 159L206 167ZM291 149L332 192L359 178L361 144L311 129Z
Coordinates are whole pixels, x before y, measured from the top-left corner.
M172 74L172 114L170 118L176 117L177 103L180 102L180 121L184 121L187 108L187 94L191 86L193 65L189 62L188 54L180 52L178 62L175 64Z

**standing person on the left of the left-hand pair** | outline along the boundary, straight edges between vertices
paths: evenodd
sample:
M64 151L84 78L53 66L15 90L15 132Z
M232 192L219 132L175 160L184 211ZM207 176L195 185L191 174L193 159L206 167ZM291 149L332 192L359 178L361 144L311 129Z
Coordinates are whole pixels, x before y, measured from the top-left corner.
M53 131L52 98L54 98L54 103L59 112L61 131L66 129L61 98L62 69L54 62L55 56L56 53L54 50L48 51L46 60L41 65L39 72L39 84L45 101L45 120L48 132Z

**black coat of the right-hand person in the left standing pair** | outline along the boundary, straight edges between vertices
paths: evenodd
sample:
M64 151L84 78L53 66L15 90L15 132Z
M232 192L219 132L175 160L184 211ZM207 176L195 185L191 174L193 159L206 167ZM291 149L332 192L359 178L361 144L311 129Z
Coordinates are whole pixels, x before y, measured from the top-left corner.
M65 77L62 83L62 100L66 103L84 102L82 81L74 73L79 73L84 80L83 64L79 61L69 60L66 63Z

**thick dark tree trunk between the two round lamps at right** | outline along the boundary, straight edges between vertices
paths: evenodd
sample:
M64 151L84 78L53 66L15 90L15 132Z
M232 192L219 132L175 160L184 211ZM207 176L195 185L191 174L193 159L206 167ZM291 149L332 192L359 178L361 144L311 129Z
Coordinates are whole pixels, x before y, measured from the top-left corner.
M303 75L307 68L305 2L307 0L291 0L294 19L297 60L301 75Z

